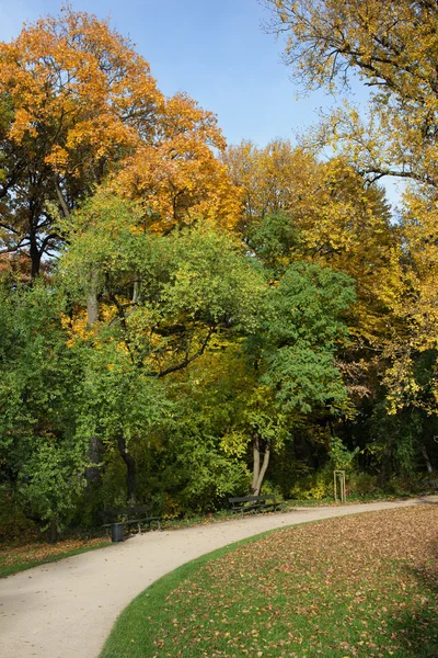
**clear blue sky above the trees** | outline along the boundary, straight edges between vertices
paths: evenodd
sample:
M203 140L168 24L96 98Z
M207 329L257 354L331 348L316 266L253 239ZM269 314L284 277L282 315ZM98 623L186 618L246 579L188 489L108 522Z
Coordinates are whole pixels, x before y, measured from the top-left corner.
M0 0L0 39L16 36L24 21L59 13L60 0ZM327 111L324 92L297 100L281 63L283 43L262 30L263 0L74 0L73 9L112 19L149 61L163 93L185 91L218 122L229 144L275 137L295 139ZM354 101L366 98L357 86ZM391 182L388 195L399 194Z

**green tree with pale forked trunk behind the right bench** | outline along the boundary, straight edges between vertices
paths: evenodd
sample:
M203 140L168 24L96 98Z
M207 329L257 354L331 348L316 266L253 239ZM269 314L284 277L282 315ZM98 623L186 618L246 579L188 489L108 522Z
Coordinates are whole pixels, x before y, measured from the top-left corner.
M354 299L351 279L304 262L268 286L258 330L244 345L238 413L222 442L235 455L251 443L255 495L273 450L293 439L299 418L314 410L335 417L348 407L336 358L347 340L343 315Z

